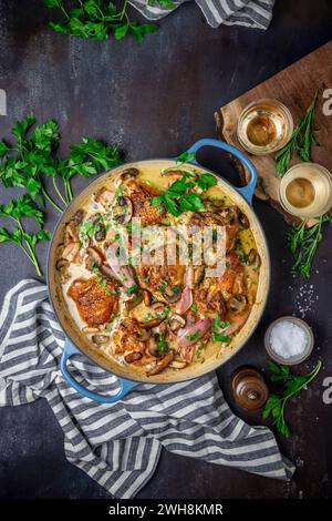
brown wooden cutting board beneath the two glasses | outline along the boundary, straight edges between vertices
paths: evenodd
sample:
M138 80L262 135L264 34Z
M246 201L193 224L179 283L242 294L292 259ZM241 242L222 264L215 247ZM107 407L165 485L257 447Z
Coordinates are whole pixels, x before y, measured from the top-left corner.
M314 127L320 146L312 147L311 159L332 172L332 115L324 115L323 113L323 104L326 102L323 93L326 89L332 89L332 41L227 103L227 105L221 106L215 113L218 135L221 140L243 150L236 135L239 115L249 103L262 98L274 98L284 103L291 111L294 126L297 126L304 115L317 88L319 89L319 99ZM248 152L246 153L248 154ZM256 196L277 208L287 222L295 223L298 219L284 212L278 201L280 178L277 176L273 155L248 155L255 163L259 174ZM298 162L299 160L293 157L290 166ZM236 165L242 183L246 184L248 180L243 167L238 163Z

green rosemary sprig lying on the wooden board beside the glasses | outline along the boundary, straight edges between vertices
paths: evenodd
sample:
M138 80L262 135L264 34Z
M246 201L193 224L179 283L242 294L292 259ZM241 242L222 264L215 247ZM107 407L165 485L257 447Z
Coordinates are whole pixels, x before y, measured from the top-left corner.
M291 139L274 156L277 161L277 172L280 176L288 171L292 152L295 153L299 160L309 162L311 145L318 145L313 130L318 94L319 90L317 89L304 116L294 129Z

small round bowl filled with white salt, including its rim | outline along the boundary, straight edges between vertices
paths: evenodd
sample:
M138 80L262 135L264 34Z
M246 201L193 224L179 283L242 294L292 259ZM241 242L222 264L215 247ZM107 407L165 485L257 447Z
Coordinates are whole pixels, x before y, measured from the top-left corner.
M272 321L264 336L266 350L278 364L294 366L309 357L314 337L310 326L298 317L286 316Z

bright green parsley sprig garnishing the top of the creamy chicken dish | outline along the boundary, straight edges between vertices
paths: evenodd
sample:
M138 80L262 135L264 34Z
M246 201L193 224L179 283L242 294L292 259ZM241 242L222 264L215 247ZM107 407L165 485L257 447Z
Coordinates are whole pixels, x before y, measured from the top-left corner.
M164 206L175 217L178 217L186 211L196 212L205 210L201 195L191 191L191 188L198 186L201 190L207 190L216 184L217 180L211 174L204 173L196 178L193 173L184 172L181 177L174 181L160 195L152 197L151 204L152 206Z

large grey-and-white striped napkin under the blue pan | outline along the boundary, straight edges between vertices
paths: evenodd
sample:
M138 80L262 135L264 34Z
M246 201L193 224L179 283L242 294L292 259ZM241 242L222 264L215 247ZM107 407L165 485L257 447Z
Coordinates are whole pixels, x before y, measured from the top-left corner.
M44 284L22 280L0 315L0 406L45 398L64 432L68 460L113 497L133 498L152 478L164 447L248 472L289 480L294 467L266 427L250 427L226 403L215 374L181 384L142 385L114 405L96 403L59 372L64 335ZM73 372L100 391L116 379L77 356Z

